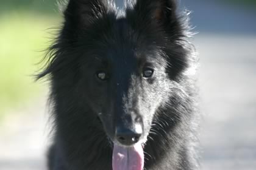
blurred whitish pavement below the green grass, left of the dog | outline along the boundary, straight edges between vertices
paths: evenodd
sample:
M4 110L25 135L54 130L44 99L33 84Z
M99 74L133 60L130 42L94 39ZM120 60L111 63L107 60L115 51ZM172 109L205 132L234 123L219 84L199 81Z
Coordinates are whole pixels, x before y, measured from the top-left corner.
M44 170L49 129L46 97L10 110L0 122L0 170Z

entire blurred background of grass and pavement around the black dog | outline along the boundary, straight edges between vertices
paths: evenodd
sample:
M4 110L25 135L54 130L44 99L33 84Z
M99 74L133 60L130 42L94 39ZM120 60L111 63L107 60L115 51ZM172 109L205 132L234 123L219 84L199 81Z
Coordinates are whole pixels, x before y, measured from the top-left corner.
M191 41L201 58L201 169L255 169L256 1L179 3L199 32ZM62 18L53 0L0 4L0 169L43 170L48 84L32 74Z

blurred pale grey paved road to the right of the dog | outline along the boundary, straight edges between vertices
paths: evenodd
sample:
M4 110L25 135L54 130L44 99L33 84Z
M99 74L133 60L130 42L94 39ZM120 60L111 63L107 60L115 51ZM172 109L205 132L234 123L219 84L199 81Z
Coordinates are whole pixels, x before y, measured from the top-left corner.
M196 38L205 114L203 169L256 167L256 36Z

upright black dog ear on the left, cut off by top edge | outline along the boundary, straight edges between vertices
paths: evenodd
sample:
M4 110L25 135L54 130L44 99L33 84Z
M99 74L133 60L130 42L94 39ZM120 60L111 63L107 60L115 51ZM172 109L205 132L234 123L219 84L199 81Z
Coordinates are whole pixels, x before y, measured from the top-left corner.
M65 25L73 29L83 29L95 19L107 13L106 0L69 0L64 12Z

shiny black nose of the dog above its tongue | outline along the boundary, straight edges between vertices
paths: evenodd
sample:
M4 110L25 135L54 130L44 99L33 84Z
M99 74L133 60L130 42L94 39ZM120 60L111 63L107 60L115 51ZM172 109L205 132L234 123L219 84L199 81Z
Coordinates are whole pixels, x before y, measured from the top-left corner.
M141 134L141 126L137 126L134 129L116 127L116 139L119 143L127 146L137 143L140 140Z

